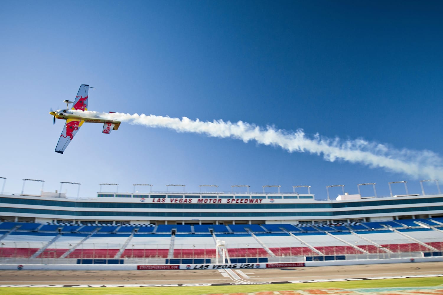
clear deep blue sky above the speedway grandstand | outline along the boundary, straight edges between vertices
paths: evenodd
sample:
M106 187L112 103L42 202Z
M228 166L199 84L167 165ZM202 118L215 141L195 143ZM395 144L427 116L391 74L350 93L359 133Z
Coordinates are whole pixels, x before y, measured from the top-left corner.
M120 184L119 192L132 184L185 184L187 192L311 185L325 199L326 185L357 193L357 184L375 182L377 195L389 195L388 182L405 180L420 193L419 180L431 177L424 170L443 175L442 12L439 1L4 1L4 191L20 192L22 179L45 180L45 191L78 182L88 197L100 183ZM303 129L308 138L382 144L386 161L401 154L400 164L421 166L405 173L128 123L109 135L84 124L55 153L64 121L52 125L48 112L66 107L80 84L97 87L93 111ZM26 182L24 192L40 188ZM77 186L65 190L77 195ZM392 191L405 192L402 184ZM435 183L425 191L436 192Z

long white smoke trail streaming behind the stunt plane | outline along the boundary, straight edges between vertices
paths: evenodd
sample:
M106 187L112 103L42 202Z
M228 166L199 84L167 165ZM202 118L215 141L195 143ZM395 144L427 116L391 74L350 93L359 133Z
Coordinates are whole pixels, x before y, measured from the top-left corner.
M315 134L309 138L302 129L295 132L266 128L238 121L237 123L214 120L202 122L187 117L170 118L156 115L130 115L123 113L97 113L86 111L91 116L117 120L147 127L163 127L177 132L206 134L210 137L236 138L244 142L256 141L267 146L279 146L288 152L308 152L323 155L326 161L343 160L361 163L371 168L384 168L392 172L412 176L414 179L442 179L443 161L438 154L429 150L395 149L385 144L363 139L341 140Z

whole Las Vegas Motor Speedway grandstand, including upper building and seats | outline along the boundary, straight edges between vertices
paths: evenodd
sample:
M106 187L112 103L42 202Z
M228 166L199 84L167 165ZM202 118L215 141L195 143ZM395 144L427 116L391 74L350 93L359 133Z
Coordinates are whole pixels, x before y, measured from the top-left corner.
M282 262L443 251L441 194L336 200L280 192L121 196L0 195L0 261L214 262L225 250L229 261Z

